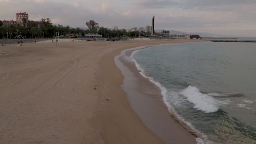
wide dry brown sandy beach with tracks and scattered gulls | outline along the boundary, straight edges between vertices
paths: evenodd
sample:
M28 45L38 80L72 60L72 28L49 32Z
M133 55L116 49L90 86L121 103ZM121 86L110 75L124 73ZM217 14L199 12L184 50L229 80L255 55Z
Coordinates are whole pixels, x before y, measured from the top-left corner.
M203 40L66 39L57 45L48 41L1 46L0 51L8 53L0 53L0 144L166 143L131 106L114 57L144 45L197 41ZM167 109L163 115L172 128L167 135L176 144L195 143L195 136Z

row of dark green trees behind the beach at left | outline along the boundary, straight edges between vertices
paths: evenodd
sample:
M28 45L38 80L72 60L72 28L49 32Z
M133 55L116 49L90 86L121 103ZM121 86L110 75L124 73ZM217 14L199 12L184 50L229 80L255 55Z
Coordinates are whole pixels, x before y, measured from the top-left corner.
M16 26L3 25L0 21L0 39L2 38L54 38L57 36L67 37L70 34L75 37L83 37L86 34L99 34L103 37L149 37L150 32L127 32L125 29L112 30L105 27L99 27L99 24L93 20L87 21L88 29L72 28L61 24L52 24L51 19L41 19L41 21L29 21L27 27L20 24Z

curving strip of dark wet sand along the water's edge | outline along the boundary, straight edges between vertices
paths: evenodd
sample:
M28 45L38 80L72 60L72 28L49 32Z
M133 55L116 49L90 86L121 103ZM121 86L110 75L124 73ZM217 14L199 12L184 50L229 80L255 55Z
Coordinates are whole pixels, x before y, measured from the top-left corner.
M136 51L153 46L155 45L126 49L115 57L115 64L122 71L122 75L124 75L122 89L128 96L133 110L135 110L143 123L165 141L166 144L195 144L196 141L201 141L200 132L196 132L197 130L182 120L175 111L173 112L173 110L167 107L162 93L164 90L156 84L158 82L152 81L152 77L144 75L144 70L139 69L136 61L132 58L132 55L136 53ZM133 87L133 85L136 85L136 87ZM150 89L150 91L148 91L148 89ZM138 96L141 98L138 98ZM141 110L142 105L147 105L144 110ZM155 121L155 123L151 121ZM175 129L175 133L173 129ZM171 133L173 137L170 137ZM183 137L184 139L177 139L177 137Z

